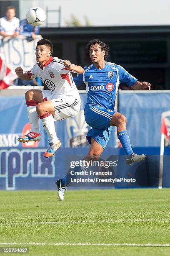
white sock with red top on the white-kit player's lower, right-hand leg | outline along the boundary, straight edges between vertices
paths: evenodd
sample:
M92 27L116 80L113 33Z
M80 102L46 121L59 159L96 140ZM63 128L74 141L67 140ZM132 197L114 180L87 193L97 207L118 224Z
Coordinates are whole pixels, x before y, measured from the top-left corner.
M44 116L44 118L43 118ZM52 143L57 144L59 139L57 138L56 132L55 132L55 125L54 125L54 118L52 114L46 112L43 115L39 115L39 118L42 122L42 125L47 132L48 136L50 137L50 141Z

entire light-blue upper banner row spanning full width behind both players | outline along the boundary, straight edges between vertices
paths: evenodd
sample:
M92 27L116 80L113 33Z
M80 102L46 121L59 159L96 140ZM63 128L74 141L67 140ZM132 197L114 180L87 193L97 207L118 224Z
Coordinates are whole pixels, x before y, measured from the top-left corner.
M87 95L81 93L80 96L82 102L80 112L73 118L55 122L57 136L63 147L88 147L85 136L90 127L84 118ZM133 147L160 146L161 114L168 110L170 110L170 92L119 92L118 111L127 118L127 130ZM0 97L0 120L3 120L3 125L0 126L0 147L25 148L48 145L47 134L41 123L40 143L23 144L17 141L19 136L30 131L25 97ZM119 144L116 128L113 128L107 147L117 146Z

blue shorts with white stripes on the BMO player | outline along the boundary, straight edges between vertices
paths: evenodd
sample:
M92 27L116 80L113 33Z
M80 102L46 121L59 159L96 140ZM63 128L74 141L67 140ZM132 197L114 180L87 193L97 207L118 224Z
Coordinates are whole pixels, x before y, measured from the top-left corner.
M85 121L92 127L87 133L87 141L91 144L91 138L94 138L102 148L105 148L109 141L112 126L110 120L115 110L108 110L99 105L85 105Z

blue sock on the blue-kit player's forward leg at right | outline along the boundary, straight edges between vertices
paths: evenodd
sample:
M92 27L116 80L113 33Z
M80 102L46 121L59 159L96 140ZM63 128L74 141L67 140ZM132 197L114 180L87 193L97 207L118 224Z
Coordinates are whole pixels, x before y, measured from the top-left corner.
M133 154L133 150L130 144L129 133L126 130L121 131L117 134L117 138L120 140L126 155L130 156L131 154Z

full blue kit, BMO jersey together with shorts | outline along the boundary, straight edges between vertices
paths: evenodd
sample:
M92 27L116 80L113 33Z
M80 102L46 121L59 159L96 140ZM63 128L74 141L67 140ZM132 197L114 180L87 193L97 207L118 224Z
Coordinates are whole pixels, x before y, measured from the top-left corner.
M85 83L87 103L85 105L85 121L92 127L87 133L87 141L94 138L102 148L105 148L112 127L110 120L115 113L115 98L120 82L132 86L138 79L133 77L119 65L105 62L103 69L97 69L94 64L85 67L84 74L74 78L76 86Z

